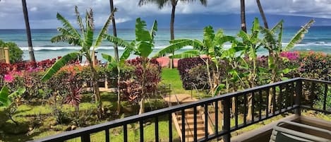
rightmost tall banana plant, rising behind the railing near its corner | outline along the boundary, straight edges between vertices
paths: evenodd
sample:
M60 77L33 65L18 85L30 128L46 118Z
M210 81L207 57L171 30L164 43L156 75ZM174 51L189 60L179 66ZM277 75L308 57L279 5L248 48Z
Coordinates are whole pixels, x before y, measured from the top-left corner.
M282 35L283 35L283 23L284 20L279 21L272 29L260 28L263 37L263 46L268 50L268 68L271 71L270 83L274 83L279 81L282 78L282 75L289 73L289 71L293 70L290 67L286 69L279 69L280 64L282 63L281 57L279 54L281 52L287 52L294 48L296 44L303 40L304 35L308 32L308 29L311 28L315 21L310 20L308 23L303 25L303 27L296 32L296 35L289 40L289 44L286 46L282 46ZM277 38L275 38L277 37ZM269 110L272 111L272 89L269 93Z

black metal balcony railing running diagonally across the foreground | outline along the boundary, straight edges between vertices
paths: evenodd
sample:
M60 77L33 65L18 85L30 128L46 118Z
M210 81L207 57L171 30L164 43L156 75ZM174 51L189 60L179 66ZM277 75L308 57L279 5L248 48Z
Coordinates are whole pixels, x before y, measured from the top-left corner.
M243 129L246 126L256 124L279 114L295 113L300 115L303 109L331 114L331 106L327 106L327 97L330 97L327 96L330 84L330 81L293 78L287 81L241 90L236 93L227 93L184 105L167 107L162 110L117 119L104 124L88 126L35 141L66 141L71 138L80 138L83 142L90 142L91 134L104 131L104 139L109 142L112 141L109 139L109 129L116 127L122 127L124 141L128 141L128 124L133 123L139 124L140 141L144 141L145 131L143 125L146 120L150 119L155 123L155 141L159 141L159 121L160 118L164 118L164 116L166 116L166 121L169 124L169 141L173 141L173 122L171 121L171 114L180 112L181 116L185 116L185 110L188 109L193 109L196 114L198 113L198 108L202 108L205 116L207 116L208 112L211 110L210 108L212 108L215 109L212 111L215 112L212 113L215 115L215 118L219 118L219 115L222 116L222 119L215 119L213 123L214 133L207 133L207 125L210 124L208 123L210 119L205 119L205 136L204 138L198 139L197 118L195 116L193 122L193 141L210 141L212 139L223 138L224 141L229 142L231 132ZM318 103L316 102L317 100ZM185 121L186 118L181 117L181 122ZM181 123L181 128L185 128L185 124L186 123ZM187 134L186 131L186 129L182 129L181 141L187 141L185 137Z

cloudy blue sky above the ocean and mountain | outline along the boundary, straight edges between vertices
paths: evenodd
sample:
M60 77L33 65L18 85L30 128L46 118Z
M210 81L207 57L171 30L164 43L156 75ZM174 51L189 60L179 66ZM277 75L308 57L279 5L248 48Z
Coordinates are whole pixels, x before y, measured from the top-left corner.
M331 0L260 0L266 15L308 16L313 18L331 18ZM100 26L109 14L108 0L27 0L31 28L56 28L56 12L75 21L73 8L77 5L81 13L86 8L93 8L95 25ZM148 17L169 14L171 6L159 9L155 4L138 6L138 0L114 0L119 9L116 20L119 25L135 20L137 17ZM191 15L228 15L240 13L239 0L209 0L207 6L198 2L185 4L179 2L176 14ZM255 0L246 0L246 13L258 13ZM331 25L331 23L329 24ZM24 28L22 4L20 0L1 0L0 28Z

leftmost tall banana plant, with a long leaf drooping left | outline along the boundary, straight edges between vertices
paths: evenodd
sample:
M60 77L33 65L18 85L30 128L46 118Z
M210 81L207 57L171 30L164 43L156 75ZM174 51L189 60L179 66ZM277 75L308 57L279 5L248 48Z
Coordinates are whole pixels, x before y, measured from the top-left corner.
M70 45L77 45L80 46L81 49L79 52L71 52L69 54L64 55L61 59L56 61L56 63L47 70L47 72L42 77L42 81L47 81L49 78L52 78L54 74L59 71L63 66L65 66L69 61L73 61L77 59L78 57L85 57L86 61L88 61L90 70L92 72L92 85L95 95L95 102L97 103L97 112L98 117L102 117L102 102L100 97L100 90L99 86L97 84L98 76L97 71L95 70L95 66L92 63L94 57L94 52L97 47L101 45L101 42L103 40L104 35L107 33L107 29L109 27L110 22L112 21L112 18L114 16L114 11L109 15L106 22L104 23L104 26L99 32L99 35L97 36L97 39L93 40L93 35L95 32L95 25L94 25L94 19L93 19L93 12L92 9L89 11L86 11L85 14L85 24L83 23L83 20L80 16L80 13L78 12L78 7L75 6L75 13L77 22L79 25L79 30L73 27L69 21L64 18L64 16L61 16L60 13L56 14L56 18L61 21L62 27L57 28L57 30L60 32L59 35L56 35L55 37L52 37L52 42L68 42Z

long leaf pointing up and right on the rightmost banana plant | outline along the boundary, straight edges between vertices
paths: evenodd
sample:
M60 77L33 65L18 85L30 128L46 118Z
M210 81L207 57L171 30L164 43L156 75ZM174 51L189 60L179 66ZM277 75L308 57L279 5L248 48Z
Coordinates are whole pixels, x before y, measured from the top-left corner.
M306 25L303 25L303 27L298 32L296 32L296 35L294 35L294 37L289 40L289 44L284 48L284 51L289 51L294 47L294 45L301 42L304 35L308 32L308 29L311 28L311 25L313 25L314 22L315 20L312 19L308 23L306 23Z

